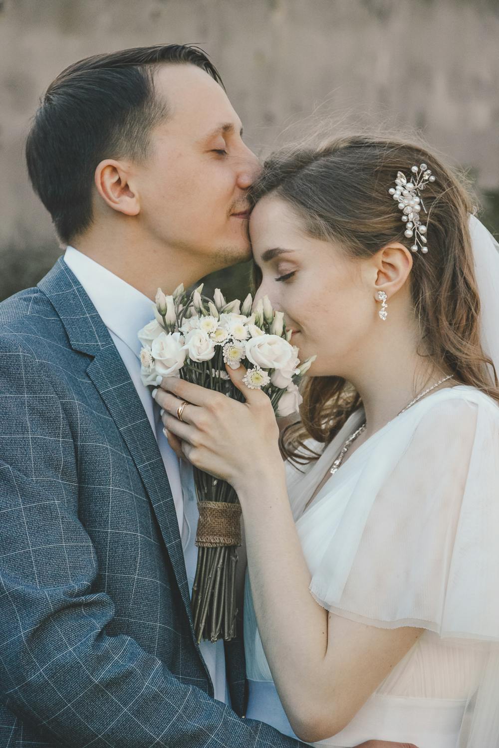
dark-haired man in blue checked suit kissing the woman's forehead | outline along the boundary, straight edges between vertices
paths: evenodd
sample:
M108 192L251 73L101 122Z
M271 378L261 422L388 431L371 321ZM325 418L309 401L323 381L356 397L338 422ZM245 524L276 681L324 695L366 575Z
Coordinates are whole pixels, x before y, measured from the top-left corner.
M195 512L140 381L156 288L250 257L239 118L200 50L131 49L55 79L26 156L67 249L0 305L0 746L298 746L238 716L240 640L195 641Z

